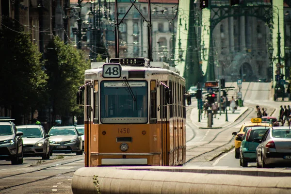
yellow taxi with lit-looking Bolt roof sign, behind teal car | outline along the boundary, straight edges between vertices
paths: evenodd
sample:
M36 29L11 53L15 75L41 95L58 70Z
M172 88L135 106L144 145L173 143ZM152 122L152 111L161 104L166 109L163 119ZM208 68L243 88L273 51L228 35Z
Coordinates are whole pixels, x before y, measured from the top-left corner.
M234 140L235 158L236 159L240 158L240 147L241 147L241 144L242 144L242 139L243 139L245 131L248 128L250 128L250 127L259 127L259 126L266 126L266 127L270 127L271 126L270 123L261 123L261 122L262 122L261 118L252 118L251 122L244 122L239 131L232 132L232 135L236 136L235 140Z

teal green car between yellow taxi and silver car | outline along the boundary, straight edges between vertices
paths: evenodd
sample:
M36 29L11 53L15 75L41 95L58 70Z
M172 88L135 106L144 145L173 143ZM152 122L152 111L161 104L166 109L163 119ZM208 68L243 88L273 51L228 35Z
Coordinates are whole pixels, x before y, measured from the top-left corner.
M262 139L268 129L270 127L267 126L249 127L246 129L240 147L240 165L242 167L247 167L248 162L257 161L256 148L259 146L258 140Z

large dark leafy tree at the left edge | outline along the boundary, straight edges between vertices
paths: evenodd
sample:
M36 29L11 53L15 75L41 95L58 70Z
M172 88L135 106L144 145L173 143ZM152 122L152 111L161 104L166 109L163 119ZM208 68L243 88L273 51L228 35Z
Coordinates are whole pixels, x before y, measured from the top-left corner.
M47 75L42 54L30 40L30 33L17 27L11 18L2 19L0 28L0 106L12 110L16 124L46 102ZM24 119L22 117L24 116Z

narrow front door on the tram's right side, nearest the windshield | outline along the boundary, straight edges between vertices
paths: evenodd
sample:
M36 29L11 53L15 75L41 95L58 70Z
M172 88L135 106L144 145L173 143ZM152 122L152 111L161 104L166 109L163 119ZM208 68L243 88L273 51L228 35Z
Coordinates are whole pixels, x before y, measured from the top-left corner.
M169 154L168 154L168 127L169 121L167 119L167 93L169 88L166 87L166 81L162 81L160 85L160 118L161 118L161 143L162 143L162 166L169 165Z

